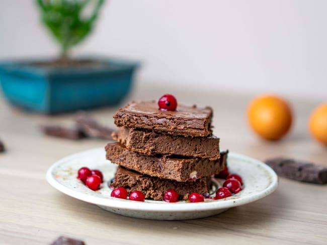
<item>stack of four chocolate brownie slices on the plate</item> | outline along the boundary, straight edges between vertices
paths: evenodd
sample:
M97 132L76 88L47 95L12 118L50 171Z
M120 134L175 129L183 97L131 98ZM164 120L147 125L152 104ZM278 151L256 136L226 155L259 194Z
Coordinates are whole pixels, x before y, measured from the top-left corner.
M120 108L114 115L118 142L106 146L107 159L120 165L112 186L154 200L168 189L180 200L193 192L208 196L210 176L224 168L211 118L210 107L195 105L161 111L155 101L146 101Z

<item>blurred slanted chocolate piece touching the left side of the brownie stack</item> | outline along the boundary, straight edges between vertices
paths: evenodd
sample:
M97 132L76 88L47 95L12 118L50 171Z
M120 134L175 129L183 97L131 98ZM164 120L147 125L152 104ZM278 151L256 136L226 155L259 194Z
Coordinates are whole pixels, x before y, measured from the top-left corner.
M102 126L93 117L85 112L77 113L75 118L77 127L89 137L101 138L106 140L113 140L111 134L115 130Z

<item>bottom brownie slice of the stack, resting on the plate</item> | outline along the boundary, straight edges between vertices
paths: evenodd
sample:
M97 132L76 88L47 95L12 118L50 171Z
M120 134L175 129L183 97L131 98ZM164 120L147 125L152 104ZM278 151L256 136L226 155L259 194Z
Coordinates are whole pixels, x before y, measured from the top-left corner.
M114 188L124 187L127 192L141 191L145 198L162 200L163 193L168 189L175 189L180 200L187 200L193 192L206 194L209 192L210 177L200 178L196 181L177 182L175 180L159 179L148 175L141 175L132 170L118 167L112 186Z

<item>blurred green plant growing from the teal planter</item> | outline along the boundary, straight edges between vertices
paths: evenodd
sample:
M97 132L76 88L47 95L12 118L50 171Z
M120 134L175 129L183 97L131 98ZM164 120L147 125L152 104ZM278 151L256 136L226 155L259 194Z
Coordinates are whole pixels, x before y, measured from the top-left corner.
M70 48L92 31L104 0L36 0L42 21L66 58ZM88 14L89 12L89 14Z

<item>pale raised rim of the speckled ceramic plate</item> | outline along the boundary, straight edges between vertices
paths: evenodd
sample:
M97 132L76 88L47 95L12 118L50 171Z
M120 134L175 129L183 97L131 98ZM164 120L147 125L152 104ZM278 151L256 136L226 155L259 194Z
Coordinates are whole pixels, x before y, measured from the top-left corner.
M248 156L229 152L228 157L236 158L240 161L250 161L256 165L262 167L265 171L267 171L271 177L271 183L266 189L248 196L243 196L235 199L227 199L227 200L218 200L218 201L211 201L211 202L197 202L197 203L166 203L162 201L158 201L158 203L154 202L136 202L136 201L129 201L124 199L118 199L113 197L108 197L107 199L97 196L92 196L86 193L80 193L78 191L74 191L73 189L66 187L60 184L52 175L52 171L58 167L60 164L66 162L67 160L74 159L76 156L80 154L86 154L88 152L99 151L102 148L95 148L87 151L82 151L79 153L75 153L64 157L58 161L56 161L51 167L48 169L46 173L46 179L48 183L54 187L55 189L59 190L60 192L76 198L81 201L93 203L100 206L107 206L111 208L120 208L120 209L130 209L130 210L137 210L137 211L160 211L160 212L175 212L175 211L201 211L201 210L215 210L215 209L224 209L224 208L231 208L243 204L247 204L250 202L257 201L263 197L268 196L269 194L273 193L277 186L278 186L278 177L274 170L272 170L268 165L265 163L250 158ZM109 162L109 161L108 161ZM172 209L172 207L174 207Z

